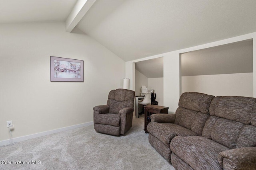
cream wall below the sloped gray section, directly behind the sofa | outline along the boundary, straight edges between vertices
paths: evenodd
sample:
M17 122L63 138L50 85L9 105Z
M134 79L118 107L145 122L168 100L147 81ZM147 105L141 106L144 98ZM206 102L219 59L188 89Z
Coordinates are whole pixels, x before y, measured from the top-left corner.
M253 73L182 76L182 93L253 97Z

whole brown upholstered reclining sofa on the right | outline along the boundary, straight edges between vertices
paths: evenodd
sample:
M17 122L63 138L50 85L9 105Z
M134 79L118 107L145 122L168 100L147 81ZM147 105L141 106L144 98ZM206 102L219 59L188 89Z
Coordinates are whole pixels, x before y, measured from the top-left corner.
M154 114L150 144L176 170L256 170L256 98L189 92Z

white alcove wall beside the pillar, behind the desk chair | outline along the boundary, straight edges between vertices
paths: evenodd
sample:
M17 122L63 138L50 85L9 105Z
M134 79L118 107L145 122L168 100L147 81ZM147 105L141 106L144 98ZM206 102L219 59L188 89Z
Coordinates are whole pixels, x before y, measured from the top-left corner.
M148 78L148 87L154 89L154 93L156 93L156 101L159 106L163 106L164 104L164 78Z

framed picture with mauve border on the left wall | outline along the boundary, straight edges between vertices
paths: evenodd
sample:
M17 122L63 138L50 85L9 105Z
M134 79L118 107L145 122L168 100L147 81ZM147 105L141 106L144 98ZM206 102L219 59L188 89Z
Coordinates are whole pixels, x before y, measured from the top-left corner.
M51 82L84 82L84 61L51 58Z

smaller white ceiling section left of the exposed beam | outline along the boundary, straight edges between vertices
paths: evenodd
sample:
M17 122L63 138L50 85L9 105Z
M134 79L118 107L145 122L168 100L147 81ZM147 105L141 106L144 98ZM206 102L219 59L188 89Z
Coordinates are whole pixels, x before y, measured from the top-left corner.
M65 21L77 0L0 0L0 23Z

